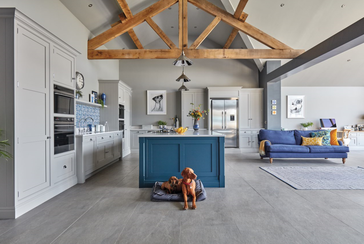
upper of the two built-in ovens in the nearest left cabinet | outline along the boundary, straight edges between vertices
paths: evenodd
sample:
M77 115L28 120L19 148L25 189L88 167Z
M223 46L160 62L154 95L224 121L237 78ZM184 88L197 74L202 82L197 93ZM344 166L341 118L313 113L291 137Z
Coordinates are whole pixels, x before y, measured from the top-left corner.
M74 90L54 85L54 113L75 114Z

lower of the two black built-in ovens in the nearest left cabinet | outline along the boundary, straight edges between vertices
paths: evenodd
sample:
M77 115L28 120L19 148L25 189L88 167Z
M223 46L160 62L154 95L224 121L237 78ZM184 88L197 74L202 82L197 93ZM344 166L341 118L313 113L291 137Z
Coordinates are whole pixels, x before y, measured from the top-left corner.
M71 117L54 117L54 154L75 150L75 122Z

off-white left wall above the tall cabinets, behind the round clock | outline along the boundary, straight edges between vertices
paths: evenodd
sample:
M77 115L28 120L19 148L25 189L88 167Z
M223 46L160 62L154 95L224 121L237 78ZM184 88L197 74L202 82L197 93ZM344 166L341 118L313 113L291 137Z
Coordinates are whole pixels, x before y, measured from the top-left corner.
M1 0L0 7L17 8L81 53L75 71L85 79L84 100L92 90L99 90L98 80L119 79L118 60L87 59L87 40L93 35L59 0Z

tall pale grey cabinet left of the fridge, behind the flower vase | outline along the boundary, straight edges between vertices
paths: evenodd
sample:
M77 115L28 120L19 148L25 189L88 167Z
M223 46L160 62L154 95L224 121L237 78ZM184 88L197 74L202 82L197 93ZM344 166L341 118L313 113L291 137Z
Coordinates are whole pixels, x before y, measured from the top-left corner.
M206 101L206 91L204 89L190 89L189 91L181 91L182 95L182 121L179 122L180 126L190 127L192 129L194 119L187 117L191 108L198 107L201 104L200 109L205 110L208 106ZM191 105L193 103L194 105ZM205 119L199 120L200 129L207 128L206 126L206 115L203 116Z

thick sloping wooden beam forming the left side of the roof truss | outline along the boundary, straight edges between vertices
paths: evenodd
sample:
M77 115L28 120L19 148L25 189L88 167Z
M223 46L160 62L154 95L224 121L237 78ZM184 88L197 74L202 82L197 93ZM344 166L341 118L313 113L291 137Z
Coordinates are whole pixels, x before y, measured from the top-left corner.
M108 29L107 31L89 40L88 49L94 50L104 45L106 42L143 23L146 18L153 17L166 8L169 8L171 5L177 3L177 1L178 0L159 0L157 3L150 5L148 8L134 15L134 18L126 21L125 23L115 25L111 29Z

